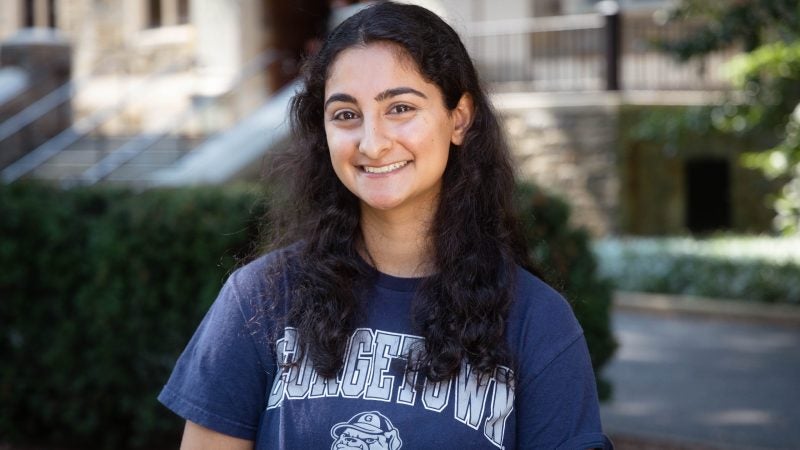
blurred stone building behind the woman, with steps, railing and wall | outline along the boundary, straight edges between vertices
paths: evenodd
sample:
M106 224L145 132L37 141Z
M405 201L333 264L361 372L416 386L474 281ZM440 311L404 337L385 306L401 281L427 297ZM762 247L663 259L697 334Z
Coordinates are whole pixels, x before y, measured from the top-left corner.
M303 55L358 2L7 0L0 170L65 185L258 176L287 139ZM702 105L736 49L681 64L653 43L691 24L665 0L419 0L463 36L523 177L595 235L769 228L771 189L727 143L631 141L642 108Z

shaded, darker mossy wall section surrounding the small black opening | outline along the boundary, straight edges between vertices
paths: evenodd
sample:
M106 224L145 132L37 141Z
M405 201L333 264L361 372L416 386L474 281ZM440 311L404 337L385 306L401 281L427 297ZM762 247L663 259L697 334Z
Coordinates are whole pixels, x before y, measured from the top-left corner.
M625 105L620 110L620 121L626 125L618 145L620 229L637 235L690 233L689 199L698 192L690 192L688 168L693 161L713 160L727 168L728 195L715 202L725 203L722 209L728 211L728 217L720 217L720 221L728 222L725 231L769 232L773 211L767 198L780 189L780 183L743 167L740 157L746 151L769 148L775 144L774 138L726 136L713 129L675 130L669 142L657 142L632 132L632 127L648 114L653 117L655 112L663 117L684 109L685 105ZM705 180L698 188L713 192L719 187L711 186L712 182ZM715 206L709 205L709 209Z

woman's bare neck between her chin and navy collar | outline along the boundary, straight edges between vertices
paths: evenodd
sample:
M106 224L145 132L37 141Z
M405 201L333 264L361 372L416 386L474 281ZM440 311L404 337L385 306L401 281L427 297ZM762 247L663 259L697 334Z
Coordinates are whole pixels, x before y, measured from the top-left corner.
M378 211L362 207L361 232L367 261L397 277L422 277L434 272L429 239L432 212Z

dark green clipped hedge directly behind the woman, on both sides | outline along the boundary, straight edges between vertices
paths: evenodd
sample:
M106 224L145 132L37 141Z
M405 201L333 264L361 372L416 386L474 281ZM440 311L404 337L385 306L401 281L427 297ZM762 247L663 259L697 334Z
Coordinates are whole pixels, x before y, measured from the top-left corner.
M586 235L563 203L521 193L531 250L575 300L599 370L609 289ZM245 188L0 186L0 446L173 448L181 420L155 397L253 253L262 205Z

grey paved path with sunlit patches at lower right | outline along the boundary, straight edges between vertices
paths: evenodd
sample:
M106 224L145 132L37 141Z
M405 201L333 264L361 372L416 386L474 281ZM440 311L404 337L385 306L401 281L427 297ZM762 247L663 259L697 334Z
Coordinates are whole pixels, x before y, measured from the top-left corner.
M611 435L800 449L800 327L616 311Z

